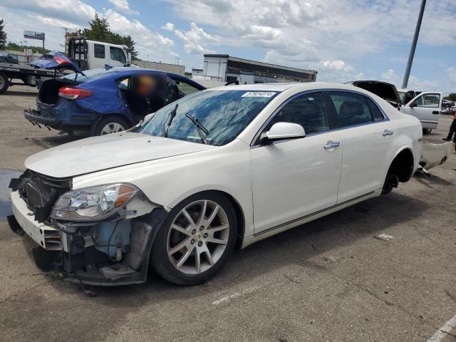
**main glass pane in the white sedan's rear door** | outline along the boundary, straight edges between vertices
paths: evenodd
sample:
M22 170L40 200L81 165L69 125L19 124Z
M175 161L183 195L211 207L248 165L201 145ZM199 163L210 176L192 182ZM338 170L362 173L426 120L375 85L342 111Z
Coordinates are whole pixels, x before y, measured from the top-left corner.
M331 100L339 117L341 127L361 125L373 121L366 97L343 92L330 92Z

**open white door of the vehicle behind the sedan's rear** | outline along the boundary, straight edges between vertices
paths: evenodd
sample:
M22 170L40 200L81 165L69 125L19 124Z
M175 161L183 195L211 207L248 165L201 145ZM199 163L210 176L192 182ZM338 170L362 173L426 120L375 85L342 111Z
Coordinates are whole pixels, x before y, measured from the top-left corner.
M410 100L406 105L400 108L405 114L415 116L421 121L425 129L437 128L442 108L442 93L425 92Z

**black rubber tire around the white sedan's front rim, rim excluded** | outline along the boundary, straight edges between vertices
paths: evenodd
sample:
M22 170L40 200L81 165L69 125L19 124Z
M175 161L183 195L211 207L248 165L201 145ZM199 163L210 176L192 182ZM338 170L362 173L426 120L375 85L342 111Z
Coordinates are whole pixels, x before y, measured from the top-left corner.
M227 213L229 222L228 243L222 254L222 257L210 269L200 274L183 274L182 272L175 269L175 266L172 265L167 255L167 234L170 230L173 219L175 219L175 216L180 212L180 210L182 210L188 204L199 199L208 199L217 202L217 204L219 204ZM170 281L172 284L185 286L199 284L207 281L207 279L210 279L215 273L217 273L217 271L219 271L219 269L224 266L224 264L227 263L227 259L229 258L229 255L232 254L234 245L236 244L236 239L236 212L234 211L232 203L229 201L229 199L217 192L200 192L199 194L192 195L190 197L187 197L187 199L184 199L182 202L177 204L167 215L167 218L162 223L152 245L152 252L150 255L151 264L157 274L162 276L163 279Z

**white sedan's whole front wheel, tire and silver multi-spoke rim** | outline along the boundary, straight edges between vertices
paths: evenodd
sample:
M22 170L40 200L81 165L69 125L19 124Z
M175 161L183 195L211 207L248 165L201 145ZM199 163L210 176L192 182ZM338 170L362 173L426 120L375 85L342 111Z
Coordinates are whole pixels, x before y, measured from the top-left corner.
M152 267L172 284L202 283L226 264L236 237L236 213L229 199L201 192L168 214L152 246Z

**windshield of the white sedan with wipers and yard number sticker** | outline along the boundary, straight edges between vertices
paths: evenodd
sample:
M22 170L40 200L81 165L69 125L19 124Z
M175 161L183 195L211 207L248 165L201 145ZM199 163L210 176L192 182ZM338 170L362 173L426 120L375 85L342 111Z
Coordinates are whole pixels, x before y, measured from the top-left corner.
M277 93L204 90L158 110L137 132L190 142L207 142L209 145L225 145L234 140ZM197 122L192 119L197 119Z

